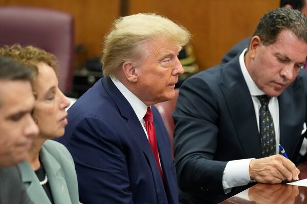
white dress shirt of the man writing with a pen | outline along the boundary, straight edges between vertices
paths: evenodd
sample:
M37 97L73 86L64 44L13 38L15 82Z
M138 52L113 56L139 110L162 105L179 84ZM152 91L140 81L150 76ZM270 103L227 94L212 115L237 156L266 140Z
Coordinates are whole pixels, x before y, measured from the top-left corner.
M260 101L256 97L257 95L264 95L265 93L261 91L257 85L252 80L244 62L244 55L247 49L245 49L242 54L239 56L240 68L243 73L243 77L251 94L253 100L253 105L255 108L255 115L258 125L259 132L259 109L261 107ZM279 106L278 98L272 97L269 102L269 110L273 118L274 129L275 129L275 139L276 139L276 154L279 152ZM245 186L251 182L249 176L249 164L253 158L242 159L242 160L233 160L229 161L224 169L223 174L223 188L225 194L231 192L231 188L236 186Z

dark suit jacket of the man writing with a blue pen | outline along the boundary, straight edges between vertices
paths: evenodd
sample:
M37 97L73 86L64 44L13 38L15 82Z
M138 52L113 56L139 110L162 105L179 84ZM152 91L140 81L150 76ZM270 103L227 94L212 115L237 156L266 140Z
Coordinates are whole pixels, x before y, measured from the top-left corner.
M247 188L233 188L225 195L225 166L231 160L261 158L255 110L238 59L193 75L180 89L173 113L174 154L179 186L189 192L180 194L194 203L216 203ZM292 161L303 140L306 83L306 71L300 70L278 96L280 144Z

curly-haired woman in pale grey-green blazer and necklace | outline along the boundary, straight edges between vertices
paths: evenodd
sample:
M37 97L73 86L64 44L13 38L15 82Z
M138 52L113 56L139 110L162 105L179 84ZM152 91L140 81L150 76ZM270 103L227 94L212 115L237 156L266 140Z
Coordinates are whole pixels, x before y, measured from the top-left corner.
M45 50L18 44L0 47L0 55L37 72L31 81L35 96L32 116L39 134L33 138L27 161L18 164L30 198L34 203L79 203L72 157L62 144L49 140L64 134L68 123L65 108L70 105L58 88L55 57Z

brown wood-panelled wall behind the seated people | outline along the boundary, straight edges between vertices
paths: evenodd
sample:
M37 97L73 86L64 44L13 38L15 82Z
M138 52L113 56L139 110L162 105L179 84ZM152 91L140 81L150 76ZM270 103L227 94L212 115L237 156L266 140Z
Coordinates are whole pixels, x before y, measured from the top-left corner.
M89 57L100 55L104 35L120 15L120 0L0 0L0 6L23 5L57 9L75 17L76 43ZM279 0L129 0L129 13L156 12L192 34L201 69L218 64L227 50L252 34L259 18Z

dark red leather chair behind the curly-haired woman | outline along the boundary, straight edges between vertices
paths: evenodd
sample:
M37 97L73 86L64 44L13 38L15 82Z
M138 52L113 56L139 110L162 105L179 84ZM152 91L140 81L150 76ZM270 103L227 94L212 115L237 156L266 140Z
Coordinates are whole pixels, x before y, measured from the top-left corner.
M0 45L33 45L54 54L60 67L60 89L72 90L74 17L50 9L0 7Z

